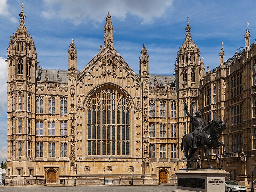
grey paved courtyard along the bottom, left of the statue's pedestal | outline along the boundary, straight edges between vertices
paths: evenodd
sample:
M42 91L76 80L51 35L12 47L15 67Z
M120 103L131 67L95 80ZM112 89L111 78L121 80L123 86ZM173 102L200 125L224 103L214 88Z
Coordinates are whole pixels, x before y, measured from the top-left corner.
M31 191L31 192L44 192L44 191L51 191L51 192L68 192L68 191L76 191L76 192L85 192L85 191L90 191L90 192L99 192L99 191L111 191L111 192L131 192L131 191L136 191L136 192L148 192L148 191L157 191L157 192L171 192L173 189L176 189L176 186L172 185L129 185L129 186L32 186L32 187L0 187L1 192L10 192L10 191Z

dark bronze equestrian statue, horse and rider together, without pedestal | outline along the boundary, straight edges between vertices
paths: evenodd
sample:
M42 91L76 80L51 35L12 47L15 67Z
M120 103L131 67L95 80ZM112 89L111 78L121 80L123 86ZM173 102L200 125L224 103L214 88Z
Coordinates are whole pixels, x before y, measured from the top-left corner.
M208 149L217 149L222 145L223 157L226 157L224 142L219 142L221 133L226 129L227 120L213 119L209 124L202 118L201 110L196 111L196 116L188 113L188 106L185 103L186 114L190 117L194 124L194 132L185 134L182 138L180 150L186 151L187 168L191 168L190 158L198 148L204 149L204 154L207 159L209 168L213 168L209 161ZM188 153L189 150L189 153Z

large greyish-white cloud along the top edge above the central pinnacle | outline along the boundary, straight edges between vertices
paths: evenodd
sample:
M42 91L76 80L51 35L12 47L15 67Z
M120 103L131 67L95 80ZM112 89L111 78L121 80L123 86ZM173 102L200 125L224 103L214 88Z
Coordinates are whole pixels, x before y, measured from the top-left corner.
M163 16L172 2L173 0L44 0L46 11L42 14L46 18L72 20L74 24L86 19L101 22L108 12L121 20L131 14L141 18L143 24Z

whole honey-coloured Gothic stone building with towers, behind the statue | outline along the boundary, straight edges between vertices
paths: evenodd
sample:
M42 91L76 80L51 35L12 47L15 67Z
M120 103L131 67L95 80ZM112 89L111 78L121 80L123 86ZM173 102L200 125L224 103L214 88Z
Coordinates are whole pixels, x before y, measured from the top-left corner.
M73 40L68 70L40 68L24 18L22 11L7 49L7 180L46 175L47 183L72 184L76 171L79 184L102 183L105 168L117 183L128 183L132 171L135 183L157 183L158 174L170 183L185 166L181 139L193 130L186 102L192 114L202 109L208 122L228 119L221 138L228 157L210 150L211 161L248 185L256 155L256 45L250 46L248 29L245 50L224 62L221 49L220 66L205 75L188 24L175 76L152 76L145 45L139 74L115 50L109 13L104 46L81 71ZM200 155L192 158L194 166L206 166Z

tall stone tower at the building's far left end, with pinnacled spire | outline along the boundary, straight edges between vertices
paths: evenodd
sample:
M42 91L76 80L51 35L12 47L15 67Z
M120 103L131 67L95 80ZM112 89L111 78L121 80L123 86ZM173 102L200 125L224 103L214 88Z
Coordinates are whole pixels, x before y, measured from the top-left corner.
M35 85L38 62L35 44L25 26L25 17L22 8L20 25L10 37L7 49L8 175L32 175L34 170L31 167L35 167Z

